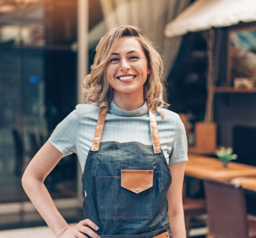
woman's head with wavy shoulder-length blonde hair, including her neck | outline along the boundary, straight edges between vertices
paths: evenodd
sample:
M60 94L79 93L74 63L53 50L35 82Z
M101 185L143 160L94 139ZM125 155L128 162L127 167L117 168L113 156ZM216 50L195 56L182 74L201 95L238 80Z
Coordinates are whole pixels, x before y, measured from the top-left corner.
M91 74L83 84L86 102L108 109L113 97L120 99L125 94L129 104L122 109L132 111L145 100L164 118L158 110L166 106L162 99L162 72L162 58L150 40L134 26L116 27L96 47Z

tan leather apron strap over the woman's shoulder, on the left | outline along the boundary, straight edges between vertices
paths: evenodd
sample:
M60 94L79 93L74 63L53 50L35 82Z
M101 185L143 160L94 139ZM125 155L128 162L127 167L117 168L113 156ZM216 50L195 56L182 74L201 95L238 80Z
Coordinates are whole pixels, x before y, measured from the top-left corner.
M98 149L100 148L101 134L103 132L105 118L107 116L107 110L105 109L106 108L101 108L100 115L98 116L97 126L94 134L93 146L91 146L92 151L98 151Z

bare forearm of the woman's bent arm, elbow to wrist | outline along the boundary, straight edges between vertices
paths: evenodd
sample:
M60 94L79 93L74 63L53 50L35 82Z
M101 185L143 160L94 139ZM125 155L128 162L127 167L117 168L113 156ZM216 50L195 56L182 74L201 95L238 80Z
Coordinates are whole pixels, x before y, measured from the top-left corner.
M64 230L69 228L47 191L43 181L37 178L23 177L22 185L33 205L43 217L56 237L62 237Z

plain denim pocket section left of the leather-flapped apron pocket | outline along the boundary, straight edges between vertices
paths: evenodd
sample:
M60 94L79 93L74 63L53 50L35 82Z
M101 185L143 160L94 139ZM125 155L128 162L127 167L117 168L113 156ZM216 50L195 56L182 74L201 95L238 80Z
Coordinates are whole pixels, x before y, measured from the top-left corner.
M96 177L100 218L121 218L120 176Z

